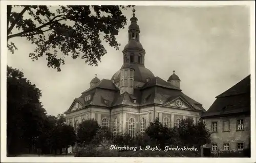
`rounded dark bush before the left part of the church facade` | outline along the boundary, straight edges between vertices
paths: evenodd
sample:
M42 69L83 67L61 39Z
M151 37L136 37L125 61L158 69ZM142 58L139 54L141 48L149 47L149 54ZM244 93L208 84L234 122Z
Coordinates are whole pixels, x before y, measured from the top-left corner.
M86 146L89 145L96 134L100 126L96 120L86 120L79 124L77 129L77 143Z

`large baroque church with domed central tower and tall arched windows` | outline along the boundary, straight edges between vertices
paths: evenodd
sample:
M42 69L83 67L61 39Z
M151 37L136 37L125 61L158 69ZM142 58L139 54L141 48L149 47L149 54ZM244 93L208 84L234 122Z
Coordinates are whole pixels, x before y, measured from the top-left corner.
M196 123L205 112L202 104L183 94L175 71L164 81L145 67L146 52L140 43L135 9L130 20L123 65L111 79L100 80L97 75L92 79L90 88L65 112L67 124L77 129L84 120L94 119L113 134L135 135L156 118L168 127L186 118Z

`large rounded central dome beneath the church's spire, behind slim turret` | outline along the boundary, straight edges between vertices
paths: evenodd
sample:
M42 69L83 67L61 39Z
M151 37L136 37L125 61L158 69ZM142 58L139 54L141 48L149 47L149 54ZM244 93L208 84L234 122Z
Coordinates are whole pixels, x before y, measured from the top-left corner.
M130 64L130 66L134 69L134 81L146 83L146 79L148 77L151 79L155 77L154 74L144 66L140 66L137 64ZM121 76L121 71L119 70L113 75L111 80L114 80L115 83L119 82L120 76Z

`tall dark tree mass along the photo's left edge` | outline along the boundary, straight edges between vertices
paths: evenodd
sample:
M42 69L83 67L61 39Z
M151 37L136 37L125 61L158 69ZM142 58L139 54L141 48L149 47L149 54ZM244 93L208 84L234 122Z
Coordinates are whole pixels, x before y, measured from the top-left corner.
M7 153L31 151L42 133L46 110L39 102L41 91L18 69L7 66Z

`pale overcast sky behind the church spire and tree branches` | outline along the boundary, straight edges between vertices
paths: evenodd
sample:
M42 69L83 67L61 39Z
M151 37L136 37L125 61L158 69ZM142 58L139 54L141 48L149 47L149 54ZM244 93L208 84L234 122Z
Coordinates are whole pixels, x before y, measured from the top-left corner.
M57 72L47 66L45 58L32 62L29 53L34 45L25 38L10 40L18 51L8 52L7 64L20 69L41 89L40 101L49 114L63 113L90 87L95 74L99 79L111 79L121 67L132 9L123 13L129 20L117 37L120 50L104 43L108 54L97 67L67 58ZM146 51L145 67L164 80L175 70L184 94L206 110L216 96L250 74L248 8L137 6L136 17Z

